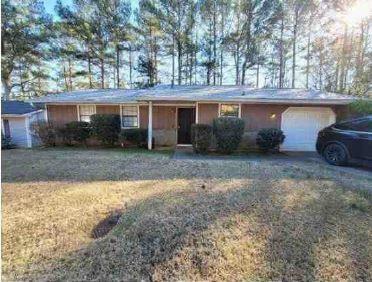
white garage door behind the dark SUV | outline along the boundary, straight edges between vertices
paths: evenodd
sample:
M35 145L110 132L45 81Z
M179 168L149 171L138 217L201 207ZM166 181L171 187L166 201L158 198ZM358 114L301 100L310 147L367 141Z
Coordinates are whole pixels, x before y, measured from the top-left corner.
M282 114L282 130L286 137L281 150L315 151L318 132L335 121L331 108L289 107Z

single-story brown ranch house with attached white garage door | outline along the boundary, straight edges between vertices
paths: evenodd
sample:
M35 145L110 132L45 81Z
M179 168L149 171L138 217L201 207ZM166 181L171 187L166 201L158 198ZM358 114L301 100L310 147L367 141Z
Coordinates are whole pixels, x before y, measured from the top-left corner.
M282 150L314 151L318 131L336 121L353 97L305 89L246 86L158 86L151 89L91 89L48 95L48 120L57 125L89 121L93 114L118 114L122 128L147 128L148 146L190 144L191 124L216 117L245 121L242 146L254 144L261 128L281 128Z

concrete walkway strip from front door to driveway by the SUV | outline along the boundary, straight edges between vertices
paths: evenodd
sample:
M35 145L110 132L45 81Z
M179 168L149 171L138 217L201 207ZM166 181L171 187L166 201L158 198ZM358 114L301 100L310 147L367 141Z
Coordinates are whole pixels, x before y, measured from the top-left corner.
M372 166L332 166L323 160L316 152L280 152L278 154L260 154L255 152L233 154L233 155L218 155L195 154L192 147L177 147L172 155L175 160L200 160L200 161L277 161L280 163L291 163L294 161L314 162L317 164L326 165L329 169L335 171L343 171L352 173L359 177L365 177L372 180Z

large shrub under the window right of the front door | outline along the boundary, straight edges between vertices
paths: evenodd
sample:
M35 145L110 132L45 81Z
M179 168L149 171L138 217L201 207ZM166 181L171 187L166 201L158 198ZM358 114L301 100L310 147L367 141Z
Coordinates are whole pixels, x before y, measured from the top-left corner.
M213 120L213 132L217 140L218 151L230 154L234 152L244 132L244 121L235 117L219 117Z

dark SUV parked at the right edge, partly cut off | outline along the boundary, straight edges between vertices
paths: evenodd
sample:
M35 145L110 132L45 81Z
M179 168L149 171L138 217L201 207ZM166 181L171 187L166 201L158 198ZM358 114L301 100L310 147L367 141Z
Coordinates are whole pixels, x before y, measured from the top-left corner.
M318 134L316 150L332 165L372 161L372 115L324 128Z

